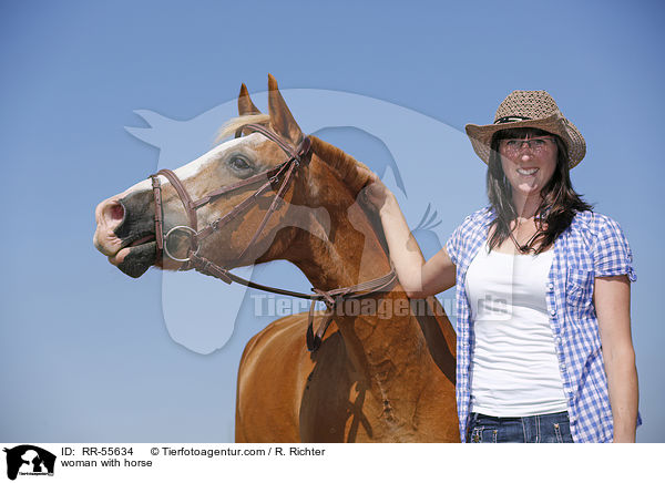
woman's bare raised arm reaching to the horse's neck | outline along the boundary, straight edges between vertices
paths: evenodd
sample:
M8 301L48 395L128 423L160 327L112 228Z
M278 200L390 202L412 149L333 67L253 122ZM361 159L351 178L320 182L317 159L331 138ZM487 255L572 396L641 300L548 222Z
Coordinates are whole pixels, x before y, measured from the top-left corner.
M366 188L365 199L379 212L390 259L407 296L424 298L452 287L456 266L446 247L426 263L395 195L374 173L372 178L374 183Z

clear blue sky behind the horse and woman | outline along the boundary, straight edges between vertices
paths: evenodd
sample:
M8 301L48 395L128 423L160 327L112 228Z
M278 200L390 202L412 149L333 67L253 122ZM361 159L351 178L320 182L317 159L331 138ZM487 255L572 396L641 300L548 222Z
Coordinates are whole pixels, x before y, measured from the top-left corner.
M440 237L484 201L482 163L470 144L457 150L463 125L491 122L512 90L548 90L587 142L576 189L621 223L635 255L638 441L663 442L664 13L659 2L627 1L0 3L1 439L233 439L239 353L268 320L252 317L246 295L222 349L177 343L161 274L133 280L112 267L92 246L93 209L158 164L188 161L132 136L125 126L146 126L134 111L185 122L233 101L242 82L264 91L270 72L287 102L300 99L287 90L355 94L458 133L452 151L405 135L397 141L412 143L413 157L392 153L405 176L424 172L438 188L427 202ZM325 136L370 165L387 155L352 130Z

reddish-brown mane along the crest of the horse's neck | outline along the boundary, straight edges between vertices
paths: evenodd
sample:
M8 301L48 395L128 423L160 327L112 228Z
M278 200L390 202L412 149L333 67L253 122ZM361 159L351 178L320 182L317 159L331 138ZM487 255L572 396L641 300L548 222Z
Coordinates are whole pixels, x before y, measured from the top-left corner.
M327 143L315 135L309 135L309 138L311 140L313 151L319 157L325 160L325 163L337 173L342 184L349 189L354 199L360 202L359 198L362 196L362 189L371 183L371 171L369 167L354 156L345 153L339 147ZM358 169L358 167L361 169ZM381 225L378 213L368 208L364 203L358 204L362 207L362 210L369 218L374 232L379 238L379 243L383 247L386 254L388 254L386 234L383 233L383 226Z

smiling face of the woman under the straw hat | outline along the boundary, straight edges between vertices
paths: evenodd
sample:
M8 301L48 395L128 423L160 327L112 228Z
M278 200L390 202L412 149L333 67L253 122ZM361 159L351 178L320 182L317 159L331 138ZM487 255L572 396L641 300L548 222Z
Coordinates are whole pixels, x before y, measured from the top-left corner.
M553 135L531 135L499 142L501 166L513 197L540 195L556 168L559 148Z

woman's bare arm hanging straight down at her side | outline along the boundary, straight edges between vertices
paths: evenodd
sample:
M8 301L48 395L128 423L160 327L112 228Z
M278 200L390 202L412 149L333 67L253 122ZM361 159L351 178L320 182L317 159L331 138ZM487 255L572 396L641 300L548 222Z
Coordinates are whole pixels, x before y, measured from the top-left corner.
M638 391L628 278L625 275L596 278L594 304L614 420L614 442L635 442Z

